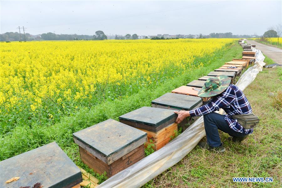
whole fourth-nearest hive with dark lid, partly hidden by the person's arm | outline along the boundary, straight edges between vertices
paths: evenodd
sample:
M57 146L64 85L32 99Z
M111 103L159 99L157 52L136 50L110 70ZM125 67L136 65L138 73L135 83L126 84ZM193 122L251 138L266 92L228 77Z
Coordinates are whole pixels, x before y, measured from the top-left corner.
M198 81L198 80L197 80ZM203 81L205 82L205 81ZM170 110L186 110L190 111L197 107L200 107L202 103L201 97L194 97L190 95L182 95L177 93L166 93L165 95L153 100L152 107L165 108ZM192 124L196 117L185 118L179 126L186 128L186 123Z

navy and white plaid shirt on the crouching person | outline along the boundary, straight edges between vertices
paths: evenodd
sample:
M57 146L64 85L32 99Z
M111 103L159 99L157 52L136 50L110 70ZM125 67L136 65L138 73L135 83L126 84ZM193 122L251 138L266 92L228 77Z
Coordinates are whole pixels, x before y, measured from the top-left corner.
M234 131L250 134L253 129L244 129L232 115L252 113L252 108L243 92L235 85L230 84L225 91L212 98L206 105L189 111L190 116L202 116L222 108L227 114L224 119Z

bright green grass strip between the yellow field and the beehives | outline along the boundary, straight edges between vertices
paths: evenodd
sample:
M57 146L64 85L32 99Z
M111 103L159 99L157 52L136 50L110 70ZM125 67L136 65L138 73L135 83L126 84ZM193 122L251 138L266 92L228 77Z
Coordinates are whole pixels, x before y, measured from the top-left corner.
M151 101L170 92L171 90L186 85L192 80L197 80L201 76L207 75L210 71L220 67L232 58L242 57L242 48L234 42L232 46L227 46L222 50L215 52L210 62L207 62L203 68L187 71L186 74L167 80L154 89L141 89L132 96L114 101L107 101L102 104L88 108L82 108L77 113L69 117L61 118L59 123L51 126L18 126L12 132L2 135L0 138L0 160L10 158L12 156L24 153L31 149L38 148L42 145L56 141L56 143L65 151L65 153L73 160L76 165L81 166L87 172L96 176L102 181L104 176L93 173L86 165L81 162L79 157L78 146L74 144L72 133L105 121L109 118L118 120L118 117L133 111L139 107L150 106ZM201 59L198 59L201 60ZM205 58L201 60L206 62Z

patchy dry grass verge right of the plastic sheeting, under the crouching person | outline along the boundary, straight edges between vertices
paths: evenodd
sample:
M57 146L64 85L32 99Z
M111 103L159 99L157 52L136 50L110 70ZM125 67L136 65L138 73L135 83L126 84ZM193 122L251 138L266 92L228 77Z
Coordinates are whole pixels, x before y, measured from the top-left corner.
M272 60L266 58L271 64ZM274 106L274 97L282 90L282 68L264 68L244 94L260 124L241 144L227 140L220 131L227 149L224 154L196 146L179 163L166 170L144 187L281 187L282 111ZM234 183L232 177L273 177L273 183Z

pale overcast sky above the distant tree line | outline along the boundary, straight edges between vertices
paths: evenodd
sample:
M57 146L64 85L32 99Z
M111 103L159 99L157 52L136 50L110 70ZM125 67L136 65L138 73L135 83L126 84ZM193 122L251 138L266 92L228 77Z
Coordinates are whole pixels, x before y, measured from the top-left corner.
M1 1L0 33L262 35L282 23L281 2Z

